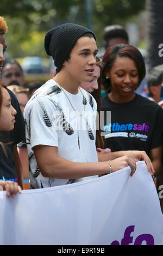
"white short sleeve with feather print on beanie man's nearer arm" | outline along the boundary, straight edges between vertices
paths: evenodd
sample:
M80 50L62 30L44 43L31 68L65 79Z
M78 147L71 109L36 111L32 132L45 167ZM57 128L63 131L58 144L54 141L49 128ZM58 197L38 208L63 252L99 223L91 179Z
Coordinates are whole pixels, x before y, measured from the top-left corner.
M36 145L58 147L58 130L55 123L56 109L43 97L36 97L25 110L26 141L33 148ZM27 143L28 144L28 143Z

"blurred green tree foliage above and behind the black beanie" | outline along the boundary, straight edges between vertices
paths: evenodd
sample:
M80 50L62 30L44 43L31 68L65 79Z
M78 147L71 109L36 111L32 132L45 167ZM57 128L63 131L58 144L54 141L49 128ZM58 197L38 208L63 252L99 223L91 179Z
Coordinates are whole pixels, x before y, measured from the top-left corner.
M145 8L145 0L88 1L92 2L92 29L99 41L105 26L113 23L125 25L130 16ZM0 15L8 21L7 39L12 55L15 57L18 54L20 57L26 54L21 45L24 41L31 40L34 31L45 33L65 22L87 26L85 2L86 0L1 0Z

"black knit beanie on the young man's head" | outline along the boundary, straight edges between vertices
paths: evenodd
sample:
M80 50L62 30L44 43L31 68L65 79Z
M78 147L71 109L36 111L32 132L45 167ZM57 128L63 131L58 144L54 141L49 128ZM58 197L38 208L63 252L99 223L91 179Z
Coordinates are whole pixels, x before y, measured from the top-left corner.
M76 41L85 33L91 33L96 40L95 34L90 29L73 23L62 24L46 33L45 51L53 57L57 72L60 71L62 64L70 55Z

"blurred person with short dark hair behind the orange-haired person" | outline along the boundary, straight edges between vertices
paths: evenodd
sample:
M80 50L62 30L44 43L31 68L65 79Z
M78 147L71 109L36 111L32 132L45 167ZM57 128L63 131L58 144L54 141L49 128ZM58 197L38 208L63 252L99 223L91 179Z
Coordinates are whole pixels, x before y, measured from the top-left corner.
M6 86L24 86L24 74L21 65L11 59L4 62L1 82Z

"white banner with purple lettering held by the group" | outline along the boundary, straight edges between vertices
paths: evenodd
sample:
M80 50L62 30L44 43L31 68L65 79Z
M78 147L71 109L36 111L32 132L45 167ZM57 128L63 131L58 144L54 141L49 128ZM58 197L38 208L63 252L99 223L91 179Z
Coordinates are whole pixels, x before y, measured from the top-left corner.
M163 217L144 161L76 184L0 198L1 245L163 245Z

